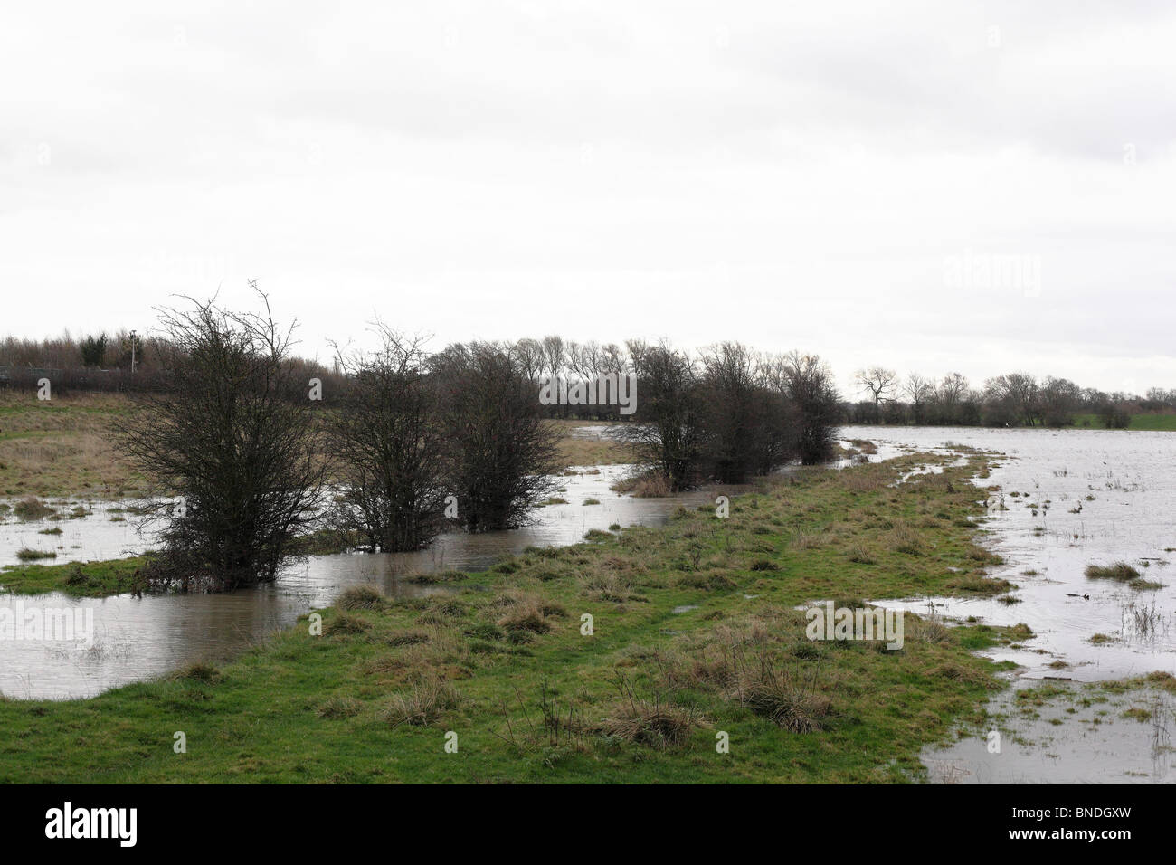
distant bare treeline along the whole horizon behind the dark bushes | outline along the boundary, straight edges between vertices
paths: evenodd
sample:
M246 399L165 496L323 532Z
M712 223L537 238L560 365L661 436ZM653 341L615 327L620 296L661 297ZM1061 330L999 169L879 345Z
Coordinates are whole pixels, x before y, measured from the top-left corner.
M747 357L751 367L770 365L764 355L739 344L737 353ZM134 346L134 373L132 373ZM650 346L644 340L623 344L577 342L557 335L520 339L500 344L528 380L555 379L564 382L597 381L602 377L649 375L642 370L642 358L668 346ZM691 379L707 374L708 358L715 350L701 353L679 352L686 358L683 372ZM174 386L168 373L174 347L166 335L133 337L127 330L113 334L99 332L72 337L68 332L45 340L0 340L0 387L35 391L41 378L49 378L54 392L162 392ZM441 352L443 353L443 352ZM283 364L292 380L316 378L323 382L322 399L332 405L343 391L346 373L335 358L330 364L289 355ZM713 367L714 364L710 362ZM714 370L711 368L711 373ZM768 378L770 373L766 373ZM754 373L761 375L761 372ZM779 374L777 374L779 378ZM1110 428L1123 428L1134 414L1176 412L1176 388L1150 388L1145 395L1081 387L1064 378L1035 377L1016 372L987 379L978 386L964 375L950 373L941 379L910 373L900 377L884 367L858 371L856 375L868 399L841 400L834 410L835 422L895 424L928 426L1047 426L1064 427L1082 415L1095 415ZM648 386L648 385L647 385ZM777 387L777 385L769 385ZM831 387L831 378L830 378ZM615 402L543 405L543 417L580 420L632 420Z

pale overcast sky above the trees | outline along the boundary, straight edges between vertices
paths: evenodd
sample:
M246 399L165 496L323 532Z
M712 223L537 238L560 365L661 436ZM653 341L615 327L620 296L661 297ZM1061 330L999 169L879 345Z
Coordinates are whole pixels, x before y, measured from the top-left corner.
M255 278L323 359L380 315L1176 387L1174 73L1171 2L5 4L0 333Z

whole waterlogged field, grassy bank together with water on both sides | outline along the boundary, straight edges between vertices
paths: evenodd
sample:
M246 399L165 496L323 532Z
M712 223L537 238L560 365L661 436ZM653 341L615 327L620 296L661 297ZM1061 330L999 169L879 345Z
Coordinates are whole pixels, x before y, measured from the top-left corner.
M1176 441L853 435L844 471L743 497L634 499L609 491L623 466L581 468L528 530L312 557L256 591L0 597L94 623L86 646L0 641L0 777L1170 779ZM140 551L102 507L58 538L9 515L0 565ZM0 583L56 579L21 567ZM903 611L904 645L809 639L826 600Z

